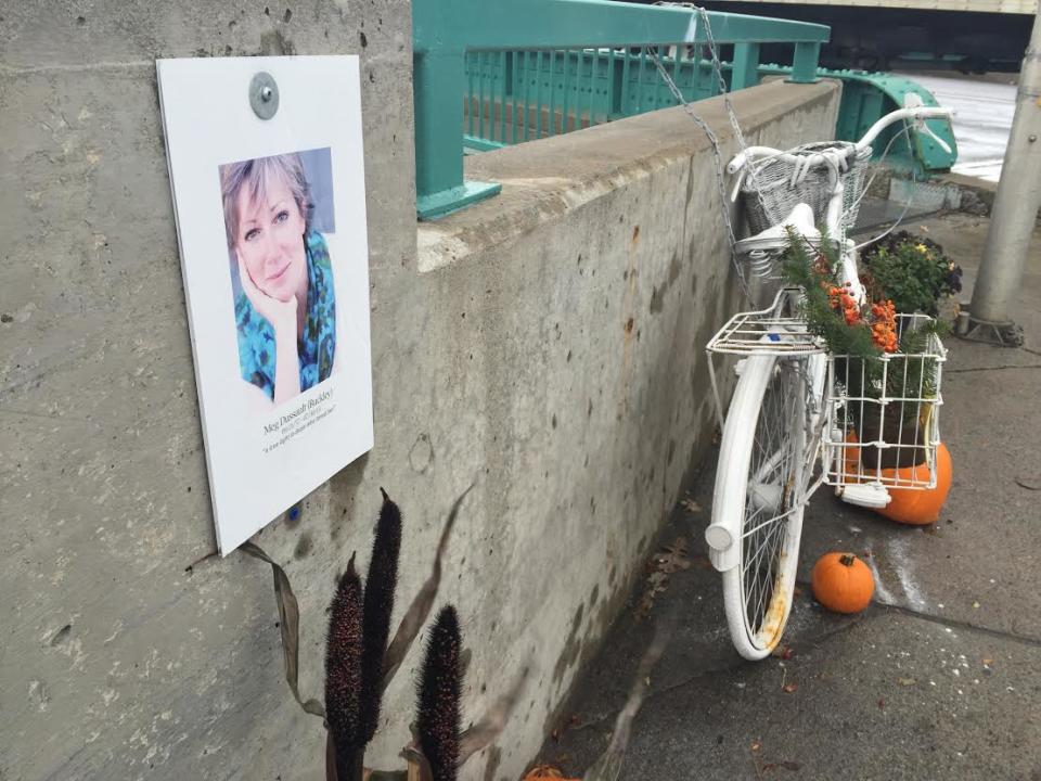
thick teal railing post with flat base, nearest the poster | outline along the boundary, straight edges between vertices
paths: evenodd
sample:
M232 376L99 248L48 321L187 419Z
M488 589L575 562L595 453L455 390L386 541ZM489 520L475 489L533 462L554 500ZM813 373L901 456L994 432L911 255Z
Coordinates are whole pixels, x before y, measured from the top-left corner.
M466 93L462 51L413 57L415 192L420 219L441 217L494 195L501 184L463 181L460 107ZM484 106L478 107L484 112Z

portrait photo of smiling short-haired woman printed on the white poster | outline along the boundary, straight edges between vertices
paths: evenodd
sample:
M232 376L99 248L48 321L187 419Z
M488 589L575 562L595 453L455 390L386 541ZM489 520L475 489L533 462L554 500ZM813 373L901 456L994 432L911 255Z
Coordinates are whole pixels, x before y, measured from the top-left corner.
M269 406L318 385L335 368L333 266L319 231L332 229L329 153L220 166L240 372ZM322 180L323 203L316 204L305 157L311 177Z

